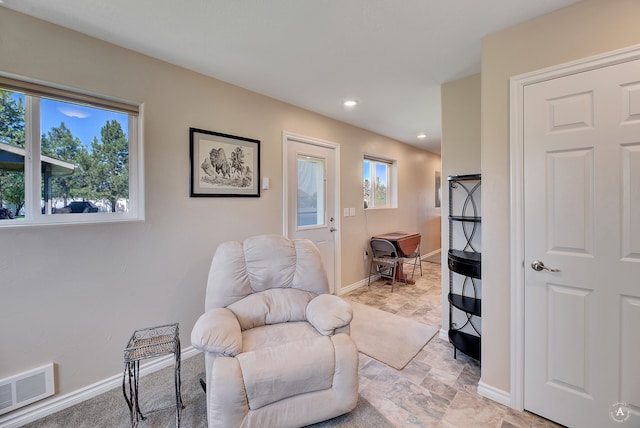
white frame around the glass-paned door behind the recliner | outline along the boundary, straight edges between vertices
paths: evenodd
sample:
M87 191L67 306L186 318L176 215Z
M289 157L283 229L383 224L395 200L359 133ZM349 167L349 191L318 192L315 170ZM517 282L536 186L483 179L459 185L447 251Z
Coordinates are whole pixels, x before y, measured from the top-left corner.
M335 213L333 217L335 218L335 228L337 232L335 234L335 238L333 240L333 254L334 254L334 290L331 290L332 294L339 294L340 292L340 278L341 278L341 242L340 242L340 145L336 143L332 143L330 141L319 140L317 138L306 137L300 134L294 134L293 132L282 131L282 209L284 215L282 216L282 234L284 236L289 236L289 204L291 201L289 200L289 192L288 192L288 184L289 184L289 163L287 162L287 152L289 146L289 140L295 140L305 144L312 144L315 146L325 147L333 150L333 161L334 161L334 210Z

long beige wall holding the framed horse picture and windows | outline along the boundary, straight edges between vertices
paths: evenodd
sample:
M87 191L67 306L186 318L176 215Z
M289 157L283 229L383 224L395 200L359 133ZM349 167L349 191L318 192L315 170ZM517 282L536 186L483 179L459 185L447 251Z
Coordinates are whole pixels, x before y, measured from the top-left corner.
M121 373L134 329L179 322L183 348L204 307L216 246L282 233L282 131L341 145L342 281L363 281L373 233L440 247L440 156L0 7L0 71L144 102L146 220L0 229L0 378L57 364L69 393ZM337 102L337 100L336 100ZM261 140L260 198L189 198L189 127ZM363 213L365 152L397 159L399 206Z

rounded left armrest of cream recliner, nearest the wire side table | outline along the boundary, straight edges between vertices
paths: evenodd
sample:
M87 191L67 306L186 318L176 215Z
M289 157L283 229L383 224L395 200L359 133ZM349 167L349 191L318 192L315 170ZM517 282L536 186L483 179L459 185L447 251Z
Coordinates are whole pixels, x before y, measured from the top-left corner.
M242 331L236 316L227 308L216 308L198 318L191 330L194 348L234 357L242 352Z

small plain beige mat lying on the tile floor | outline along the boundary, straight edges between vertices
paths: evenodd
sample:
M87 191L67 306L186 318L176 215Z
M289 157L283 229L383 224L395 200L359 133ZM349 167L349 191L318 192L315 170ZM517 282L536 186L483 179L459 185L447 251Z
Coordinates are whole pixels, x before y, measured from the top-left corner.
M370 306L353 307L351 337L358 351L402 370L438 332L436 327L402 318Z

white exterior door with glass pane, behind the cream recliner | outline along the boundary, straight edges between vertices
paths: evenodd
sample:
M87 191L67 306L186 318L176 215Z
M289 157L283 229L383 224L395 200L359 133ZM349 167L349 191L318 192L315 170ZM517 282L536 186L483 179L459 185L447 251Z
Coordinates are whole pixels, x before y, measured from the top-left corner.
M340 271L337 215L338 146L292 134L284 135L285 235L309 239L322 255L331 293Z

